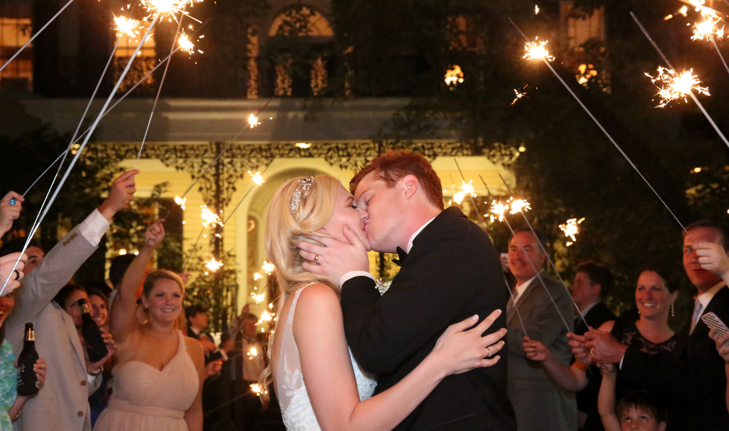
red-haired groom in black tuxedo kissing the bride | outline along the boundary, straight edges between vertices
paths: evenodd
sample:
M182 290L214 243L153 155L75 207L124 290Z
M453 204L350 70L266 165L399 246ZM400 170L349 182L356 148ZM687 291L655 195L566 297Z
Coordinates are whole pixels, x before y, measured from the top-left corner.
M367 250L352 244L301 242L305 269L340 280L349 347L365 371L378 374L375 393L413 371L448 325L506 309L509 290L499 253L459 207L443 210L443 189L429 162L410 151L387 151L350 182L370 247L398 253L401 266L380 296ZM354 226L357 229L358 226ZM311 252L311 253L310 253ZM506 327L504 312L488 333ZM445 377L395 430L515 430L507 398L507 360Z

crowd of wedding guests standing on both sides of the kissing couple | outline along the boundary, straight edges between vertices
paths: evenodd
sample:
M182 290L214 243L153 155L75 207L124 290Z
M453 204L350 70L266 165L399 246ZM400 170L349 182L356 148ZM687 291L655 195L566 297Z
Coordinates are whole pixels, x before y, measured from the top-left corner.
M109 280L71 281L134 198L136 173L116 178L104 202L47 253L22 237L0 247L0 277L9 279L0 296L0 431L257 430L278 409L273 398L265 410L253 389L267 365L264 320L246 305L213 336L209 309L182 307L189 274L150 269L163 219L148 227L136 256L112 259ZM0 236L22 202L12 191L0 199ZM541 232L516 229L502 261L507 393L518 431L729 430L729 333L719 328L729 322L729 230L697 221L682 244L668 245L682 247L683 274L697 293L686 322L676 317L683 274L675 268L644 266L633 279L635 307L617 317L606 304L611 270L577 265L570 296L545 265L546 244ZM106 344L100 360L89 358L79 300ZM34 396L15 392L26 323L40 357Z

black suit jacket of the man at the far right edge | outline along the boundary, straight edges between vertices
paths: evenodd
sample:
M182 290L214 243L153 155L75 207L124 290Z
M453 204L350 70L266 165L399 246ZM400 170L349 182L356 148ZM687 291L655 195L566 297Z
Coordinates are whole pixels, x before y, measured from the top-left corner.
M714 312L729 323L729 288L721 288L703 314ZM620 375L638 381L673 401L671 430L729 430L726 373L709 328L698 320L681 332L674 352L648 355L628 347Z

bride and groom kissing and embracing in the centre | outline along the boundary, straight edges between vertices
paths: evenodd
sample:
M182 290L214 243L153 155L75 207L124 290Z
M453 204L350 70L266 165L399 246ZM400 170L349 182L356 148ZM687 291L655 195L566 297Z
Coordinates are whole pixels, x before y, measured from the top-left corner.
M516 430L507 398L499 253L430 163L387 151L350 182L293 178L265 247L281 288L270 340L288 431ZM398 253L381 295L367 251Z

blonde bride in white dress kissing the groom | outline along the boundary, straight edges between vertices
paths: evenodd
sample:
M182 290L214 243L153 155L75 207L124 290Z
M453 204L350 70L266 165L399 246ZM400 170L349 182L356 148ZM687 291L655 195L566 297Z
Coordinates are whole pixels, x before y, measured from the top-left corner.
M500 310L467 331L478 320L469 317L448 327L405 379L373 397L374 376L367 376L348 352L340 288L320 274L305 271L295 246L301 240L311 241L303 237L311 234L346 241L345 225L359 227L354 230L367 245L354 198L328 175L287 181L268 210L265 247L276 265L282 295L279 327L261 386L268 387L273 380L289 431L392 430L445 376L494 365L499 356L484 358L504 345L499 341L506 333L503 328L480 336Z

